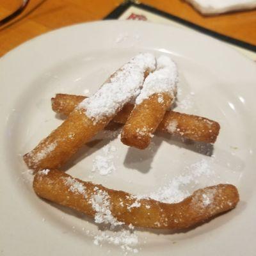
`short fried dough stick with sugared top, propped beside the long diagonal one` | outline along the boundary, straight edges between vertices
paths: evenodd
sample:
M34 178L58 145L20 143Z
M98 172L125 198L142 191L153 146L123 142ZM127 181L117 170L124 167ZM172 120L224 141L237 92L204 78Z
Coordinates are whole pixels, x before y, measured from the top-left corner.
M121 141L145 149L176 95L177 67L167 56L157 58L157 69L144 81L134 109L124 125Z

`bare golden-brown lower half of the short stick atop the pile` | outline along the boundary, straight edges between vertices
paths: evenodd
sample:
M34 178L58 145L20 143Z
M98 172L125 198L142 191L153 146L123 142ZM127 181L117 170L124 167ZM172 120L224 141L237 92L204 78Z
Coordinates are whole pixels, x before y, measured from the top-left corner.
M161 99L161 102L159 102ZM154 93L141 104L135 105L124 125L121 141L125 145L140 149L147 148L152 134L170 108L172 97L168 93Z

